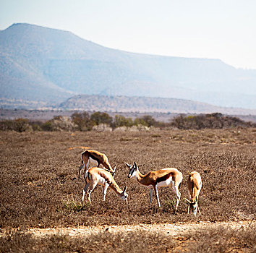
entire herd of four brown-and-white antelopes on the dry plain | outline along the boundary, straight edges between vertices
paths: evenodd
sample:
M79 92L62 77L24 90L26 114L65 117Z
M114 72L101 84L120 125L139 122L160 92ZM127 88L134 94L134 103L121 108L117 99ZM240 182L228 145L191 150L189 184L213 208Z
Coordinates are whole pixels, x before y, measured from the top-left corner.
M85 188L82 191L82 201L85 199L85 194L88 194L88 201L90 200L90 194L93 192L93 189L98 184L102 187L103 201L105 201L106 191L108 186L119 195L122 200L128 201L128 194L126 192L126 186L124 190L121 190L116 181L114 180L114 173L116 172L116 166L114 169L108 163L108 158L105 154L100 153L96 150L85 150L81 155L82 164L79 168L78 177L80 178L80 173L82 168L84 171L85 178ZM90 162L95 161L98 163L97 167L89 168ZM125 163L129 168L128 178L136 177L137 181L147 186L150 189L150 204L152 202L153 190L155 192L155 197L158 202L158 206L161 207L159 196L158 196L158 187L170 186L176 194L176 207L175 212L179 205L179 200L181 198L181 193L179 192L179 184L182 183L182 172L178 171L176 168L162 168L158 171L150 171L147 174L143 175L140 173L139 168L136 163L129 165ZM103 168L99 168L102 165ZM189 178L187 180L187 186L189 190L189 195L191 200L185 199L189 205L187 208L187 213L191 211L194 215L200 214L198 207L198 195L202 188L202 179L200 173L193 171L189 173Z

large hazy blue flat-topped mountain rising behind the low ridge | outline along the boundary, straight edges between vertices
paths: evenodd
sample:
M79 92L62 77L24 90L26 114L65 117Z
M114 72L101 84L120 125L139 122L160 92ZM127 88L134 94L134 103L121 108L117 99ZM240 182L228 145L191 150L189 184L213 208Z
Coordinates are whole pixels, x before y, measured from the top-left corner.
M218 59L129 53L47 27L0 31L1 105L55 105L78 94L179 98L256 108L256 70ZM26 107L25 106L25 107Z

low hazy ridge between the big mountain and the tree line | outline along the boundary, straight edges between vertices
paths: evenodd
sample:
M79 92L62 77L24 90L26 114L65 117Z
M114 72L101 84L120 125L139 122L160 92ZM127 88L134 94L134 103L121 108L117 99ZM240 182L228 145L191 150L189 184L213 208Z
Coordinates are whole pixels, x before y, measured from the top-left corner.
M104 95L75 95L58 106L62 110L161 113L226 113L256 115L256 110L224 108L192 100Z

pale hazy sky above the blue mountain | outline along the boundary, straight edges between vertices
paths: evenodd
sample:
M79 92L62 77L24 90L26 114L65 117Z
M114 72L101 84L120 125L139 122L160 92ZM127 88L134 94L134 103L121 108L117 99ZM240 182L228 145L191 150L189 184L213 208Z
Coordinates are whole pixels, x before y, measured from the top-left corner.
M256 69L256 0L0 0L0 30L18 22L124 51Z

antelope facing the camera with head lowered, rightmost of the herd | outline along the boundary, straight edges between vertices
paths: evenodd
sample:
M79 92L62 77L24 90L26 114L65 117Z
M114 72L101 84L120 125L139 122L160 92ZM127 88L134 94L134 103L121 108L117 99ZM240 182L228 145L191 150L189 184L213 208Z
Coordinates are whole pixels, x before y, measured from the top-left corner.
M198 209L198 213L201 214L197 203L198 195L202 188L202 179L200 173L197 171L189 173L189 179L187 179L187 187L189 188L189 194L191 197L191 200L185 199L189 203L189 206L187 207L187 213L189 213L189 210L191 210L192 213L196 216Z

